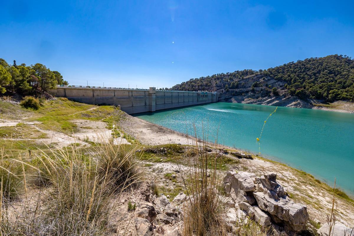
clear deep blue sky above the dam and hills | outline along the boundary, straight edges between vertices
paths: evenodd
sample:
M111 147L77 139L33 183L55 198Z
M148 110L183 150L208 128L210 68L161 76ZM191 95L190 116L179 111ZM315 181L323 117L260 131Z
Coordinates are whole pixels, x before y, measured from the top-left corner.
M0 58L72 85L171 87L308 57L354 57L353 1L5 1Z

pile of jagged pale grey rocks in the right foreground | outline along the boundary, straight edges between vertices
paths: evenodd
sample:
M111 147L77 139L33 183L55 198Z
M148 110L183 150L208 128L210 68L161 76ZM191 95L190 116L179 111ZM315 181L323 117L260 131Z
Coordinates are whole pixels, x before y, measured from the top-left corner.
M256 177L234 168L227 172L223 184L227 196L235 202L236 214L240 210L262 227L272 224L280 231L306 230L307 207L290 200L276 182L276 173Z

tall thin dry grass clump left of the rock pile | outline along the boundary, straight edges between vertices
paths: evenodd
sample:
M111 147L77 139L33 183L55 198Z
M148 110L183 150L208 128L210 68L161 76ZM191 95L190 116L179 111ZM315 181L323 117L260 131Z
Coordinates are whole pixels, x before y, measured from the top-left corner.
M195 128L194 133L195 137L192 140L194 151L191 152L188 162L190 183L186 182L182 174L183 184L190 196L187 206L184 207L183 234L224 236L227 235L226 211L217 190L219 184L217 165L220 157L209 155L206 151L208 143L204 130L202 140L198 139Z

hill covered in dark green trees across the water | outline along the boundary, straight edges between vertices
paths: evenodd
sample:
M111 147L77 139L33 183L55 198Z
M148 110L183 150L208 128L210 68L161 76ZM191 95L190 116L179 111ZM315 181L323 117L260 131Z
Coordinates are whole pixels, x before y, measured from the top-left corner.
M272 80L278 82L267 83ZM190 79L171 89L237 91L247 87L252 91L255 87L272 88L274 94L281 90L302 99L354 101L354 59L337 54L308 58L267 70L242 70Z

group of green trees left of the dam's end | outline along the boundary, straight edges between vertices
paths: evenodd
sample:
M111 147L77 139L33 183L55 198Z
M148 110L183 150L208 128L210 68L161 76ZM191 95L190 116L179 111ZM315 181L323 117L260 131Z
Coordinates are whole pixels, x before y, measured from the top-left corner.
M51 71L40 63L26 66L13 61L13 65L9 65L0 58L0 94L38 95L57 85L68 85L58 71Z

